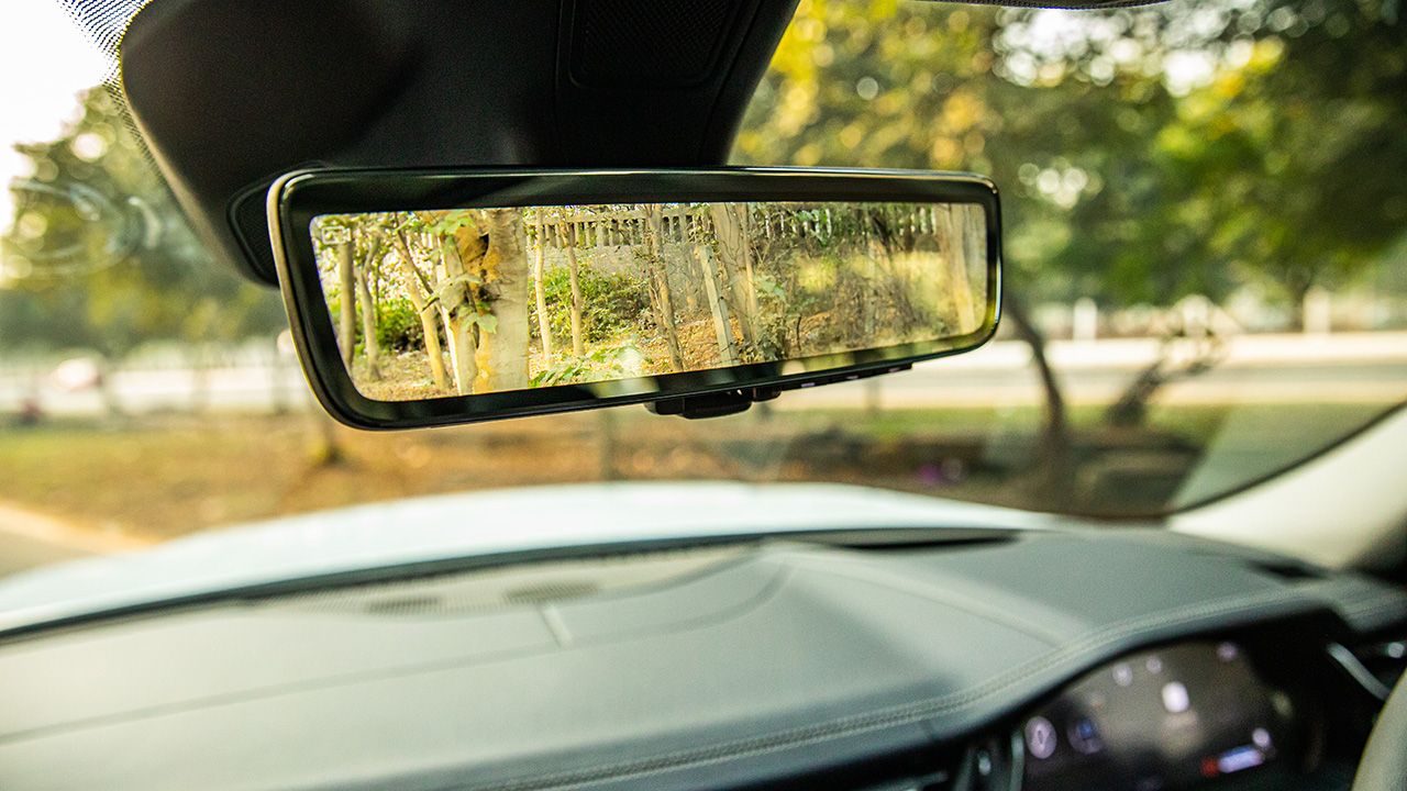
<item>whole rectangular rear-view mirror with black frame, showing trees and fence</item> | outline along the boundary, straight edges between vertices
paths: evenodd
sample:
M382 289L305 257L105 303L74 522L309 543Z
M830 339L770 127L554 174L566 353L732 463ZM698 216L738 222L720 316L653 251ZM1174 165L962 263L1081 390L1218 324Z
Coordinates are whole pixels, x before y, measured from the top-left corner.
M999 311L974 176L304 170L269 214L308 380L363 428L727 414L972 349Z

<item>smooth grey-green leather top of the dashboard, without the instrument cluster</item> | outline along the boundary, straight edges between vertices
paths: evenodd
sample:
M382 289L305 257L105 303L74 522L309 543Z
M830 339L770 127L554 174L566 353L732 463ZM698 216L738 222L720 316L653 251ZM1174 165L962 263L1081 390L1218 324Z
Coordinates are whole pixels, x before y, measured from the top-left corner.
M1407 619L1407 595L1368 577L1152 531L764 542L605 584L661 562L680 559L523 570L537 576L504 574L498 593L435 577L248 598L3 643L0 787L744 787L958 742L1150 645L1316 618L1352 639Z

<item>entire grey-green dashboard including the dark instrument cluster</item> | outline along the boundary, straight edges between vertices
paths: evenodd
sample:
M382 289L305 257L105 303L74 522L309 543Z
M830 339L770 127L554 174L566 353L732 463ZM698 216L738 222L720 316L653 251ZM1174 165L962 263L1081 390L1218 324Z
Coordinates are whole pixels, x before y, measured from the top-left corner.
M1361 574L1158 531L868 535L10 635L0 788L1346 788L1407 653L1407 594Z

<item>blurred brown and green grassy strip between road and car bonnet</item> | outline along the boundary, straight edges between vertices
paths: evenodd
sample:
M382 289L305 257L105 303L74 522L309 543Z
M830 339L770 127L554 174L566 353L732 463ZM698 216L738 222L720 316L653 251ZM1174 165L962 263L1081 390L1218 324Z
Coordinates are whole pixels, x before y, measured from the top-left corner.
M1083 495L1113 498L1100 507L1121 512L1166 494L1104 477L1154 470L1175 484L1211 442L1234 459L1225 474L1269 473L1389 407L1155 407L1137 429L1110 429L1102 410L1075 407L1071 425ZM360 502L595 480L825 480L1038 507L1021 481L1041 415L1038 407L772 408L681 421L636 408L394 434L314 414L49 421L0 431L0 501L158 540ZM329 438L340 462L318 463ZM473 515L466 529L476 529Z

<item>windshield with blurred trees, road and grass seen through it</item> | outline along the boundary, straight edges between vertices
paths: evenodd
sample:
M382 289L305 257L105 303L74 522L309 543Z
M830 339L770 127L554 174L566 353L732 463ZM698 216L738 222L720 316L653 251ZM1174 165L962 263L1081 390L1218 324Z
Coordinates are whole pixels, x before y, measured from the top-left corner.
M1237 491L1407 397L1399 13L802 0L733 162L991 175L1007 234L993 342L729 418L362 434L314 405L277 293L186 225L100 84L86 35L107 34L8 4L0 532L87 552L567 481L836 481L1097 517ZM571 324L557 274L535 325ZM580 287L615 280L582 262ZM609 341L636 303L602 300L584 332ZM371 310L421 331L400 303ZM398 339L376 343L391 365ZM21 549L0 573L69 556L6 540Z

